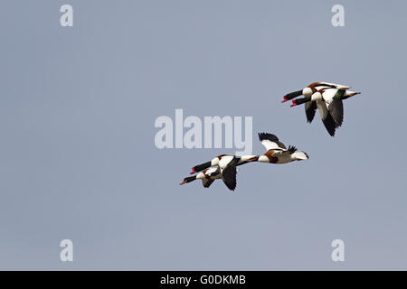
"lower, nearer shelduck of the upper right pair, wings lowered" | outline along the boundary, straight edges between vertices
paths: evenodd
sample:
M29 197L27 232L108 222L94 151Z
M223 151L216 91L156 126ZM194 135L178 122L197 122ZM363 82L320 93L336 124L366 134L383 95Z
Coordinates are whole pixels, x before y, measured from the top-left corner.
M334 136L336 128L342 126L344 121L343 100L353 97L360 92L346 89L318 89L311 96L297 98L292 100L290 107L305 104L308 123L311 123L315 117L318 108L319 115L329 135Z

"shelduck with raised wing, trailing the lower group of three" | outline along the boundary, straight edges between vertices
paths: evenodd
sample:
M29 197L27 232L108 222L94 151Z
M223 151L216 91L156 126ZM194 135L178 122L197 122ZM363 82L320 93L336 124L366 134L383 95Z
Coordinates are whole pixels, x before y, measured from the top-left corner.
M258 156L260 163L289 163L293 161L308 160L308 154L298 152L295 146L289 145L289 149L279 141L277 135L268 133L259 134L260 143L264 145L267 152Z

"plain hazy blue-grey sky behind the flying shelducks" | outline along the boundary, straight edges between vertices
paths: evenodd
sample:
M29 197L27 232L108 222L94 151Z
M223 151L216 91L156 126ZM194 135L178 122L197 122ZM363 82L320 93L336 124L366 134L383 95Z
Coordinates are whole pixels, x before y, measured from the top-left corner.
M62 27L60 7L73 7ZM331 23L333 5L345 26ZM35 1L0 10L0 269L406 270L407 4ZM346 84L344 125L280 100ZM155 144L157 117L252 117L309 160L179 186L229 148ZM60 259L71 239L73 262ZM345 244L345 261L331 243Z

